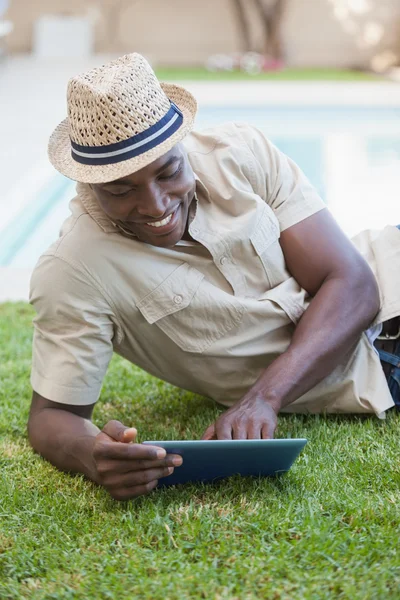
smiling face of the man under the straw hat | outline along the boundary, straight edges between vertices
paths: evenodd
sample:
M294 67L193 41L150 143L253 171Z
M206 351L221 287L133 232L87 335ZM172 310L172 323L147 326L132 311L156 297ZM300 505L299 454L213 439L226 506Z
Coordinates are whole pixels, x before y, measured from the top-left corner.
M185 233L195 178L182 144L147 167L108 183L92 184L103 211L153 246L174 246Z

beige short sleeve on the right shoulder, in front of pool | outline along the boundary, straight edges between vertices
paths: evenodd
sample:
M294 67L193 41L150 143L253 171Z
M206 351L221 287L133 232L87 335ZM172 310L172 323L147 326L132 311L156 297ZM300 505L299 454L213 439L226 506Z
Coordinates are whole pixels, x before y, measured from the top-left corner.
M254 157L256 191L273 209L281 231L326 208L296 163L255 127L237 126Z

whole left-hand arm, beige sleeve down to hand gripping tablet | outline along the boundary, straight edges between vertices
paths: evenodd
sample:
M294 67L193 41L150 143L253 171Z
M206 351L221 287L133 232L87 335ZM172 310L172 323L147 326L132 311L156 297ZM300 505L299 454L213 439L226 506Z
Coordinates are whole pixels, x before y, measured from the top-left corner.
M62 471L83 473L117 500L148 493L182 460L166 457L162 448L130 443L136 429L119 421L101 431L91 422L118 338L117 318L103 291L63 258L44 255L32 276L31 303L37 313L28 423L33 448Z

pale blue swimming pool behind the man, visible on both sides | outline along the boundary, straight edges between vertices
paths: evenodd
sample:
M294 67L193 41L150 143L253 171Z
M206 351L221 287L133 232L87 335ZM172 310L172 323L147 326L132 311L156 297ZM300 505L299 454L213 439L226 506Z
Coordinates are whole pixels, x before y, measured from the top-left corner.
M400 108L203 107L197 128L261 129L303 169L349 235L400 222ZM0 267L31 269L58 236L75 184L49 169L0 229Z

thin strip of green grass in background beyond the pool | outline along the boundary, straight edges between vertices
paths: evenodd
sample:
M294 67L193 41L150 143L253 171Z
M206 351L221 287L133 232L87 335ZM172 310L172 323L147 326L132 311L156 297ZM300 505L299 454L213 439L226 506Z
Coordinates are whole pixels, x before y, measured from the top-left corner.
M241 71L212 73L205 68L159 68L161 81L382 81L382 77L349 69L282 69L248 75Z

